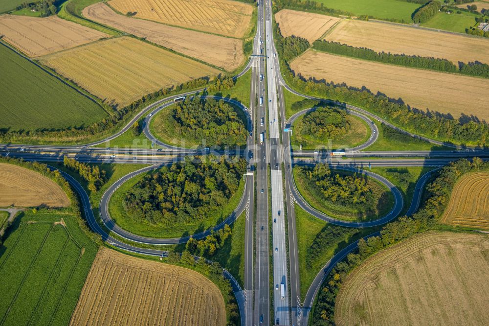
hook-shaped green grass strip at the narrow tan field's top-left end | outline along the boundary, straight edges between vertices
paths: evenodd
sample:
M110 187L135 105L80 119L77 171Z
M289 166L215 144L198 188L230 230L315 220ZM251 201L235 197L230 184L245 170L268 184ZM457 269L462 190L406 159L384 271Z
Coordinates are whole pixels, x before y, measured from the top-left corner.
M83 8L88 7L91 4L100 2L101 0L68 0L63 3L58 11L58 17L71 21L73 23L79 23L102 33L109 34L111 36L121 35L118 31L108 28L102 24L95 23L87 20L82 15Z

